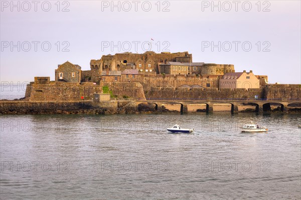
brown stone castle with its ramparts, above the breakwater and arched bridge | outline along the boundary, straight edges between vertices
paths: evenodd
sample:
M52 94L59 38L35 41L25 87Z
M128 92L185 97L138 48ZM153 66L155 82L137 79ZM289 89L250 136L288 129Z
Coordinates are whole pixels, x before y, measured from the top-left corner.
M192 54L118 53L90 61L90 70L67 61L50 77L35 77L27 100L91 100L110 92L115 98L265 98L267 76L235 72L234 65L193 62ZM108 91L104 91L104 87ZM288 98L294 92L287 93ZM276 94L277 96L277 94Z

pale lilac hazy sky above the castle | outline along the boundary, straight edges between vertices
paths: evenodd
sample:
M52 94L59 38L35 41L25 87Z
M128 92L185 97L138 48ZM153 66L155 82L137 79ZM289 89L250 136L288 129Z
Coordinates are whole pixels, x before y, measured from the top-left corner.
M300 1L0 1L1 82L34 81L69 61L185 52L300 84Z

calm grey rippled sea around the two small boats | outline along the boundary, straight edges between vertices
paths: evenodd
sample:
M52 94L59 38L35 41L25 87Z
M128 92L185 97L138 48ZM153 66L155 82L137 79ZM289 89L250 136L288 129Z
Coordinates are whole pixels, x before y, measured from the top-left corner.
M241 133L250 120L271 131ZM300 199L300 121L228 112L2 115L0 198ZM176 123L196 131L168 133Z

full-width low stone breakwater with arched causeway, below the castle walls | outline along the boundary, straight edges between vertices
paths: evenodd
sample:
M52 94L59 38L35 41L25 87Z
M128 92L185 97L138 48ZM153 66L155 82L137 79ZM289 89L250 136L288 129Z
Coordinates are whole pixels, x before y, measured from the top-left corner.
M0 101L0 114L137 114L173 112L168 105L178 105L179 112L188 113L189 106L200 105L201 112L214 112L216 105L229 105L231 113L240 112L238 107L253 106L250 112L300 112L300 101L289 100L112 100L93 101ZM241 111L243 112L243 111Z

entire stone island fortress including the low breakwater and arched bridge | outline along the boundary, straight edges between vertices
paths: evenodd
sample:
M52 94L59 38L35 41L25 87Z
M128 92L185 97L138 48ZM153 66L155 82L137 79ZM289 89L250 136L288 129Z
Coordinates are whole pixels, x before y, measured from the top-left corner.
M192 54L129 52L104 55L90 61L90 70L67 61L55 69L55 80L35 77L25 97L0 101L0 114L115 114L166 112L180 105L183 113L195 105L212 112L228 104L255 112L301 110L301 85L269 84L267 76L234 65L193 62ZM195 109L195 108L193 108ZM194 112L194 111L193 111Z

